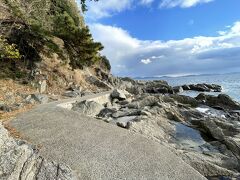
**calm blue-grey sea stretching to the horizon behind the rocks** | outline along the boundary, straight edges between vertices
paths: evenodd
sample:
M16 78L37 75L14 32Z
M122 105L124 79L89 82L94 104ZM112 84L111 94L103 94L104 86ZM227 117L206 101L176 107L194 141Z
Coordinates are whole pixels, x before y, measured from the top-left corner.
M181 86L184 84L218 84L221 85L223 91L221 93L229 95L235 101L240 102L240 73L229 74L205 74L205 75L189 75L179 77L144 77L137 78L142 80L165 80L171 86ZM183 95L196 97L199 92L196 91L184 91ZM209 92L206 94L218 95L219 93Z

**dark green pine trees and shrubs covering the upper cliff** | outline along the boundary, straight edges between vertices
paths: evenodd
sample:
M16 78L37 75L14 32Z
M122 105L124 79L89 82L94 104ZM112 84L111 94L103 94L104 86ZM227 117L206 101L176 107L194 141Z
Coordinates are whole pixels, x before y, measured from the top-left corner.
M73 68L83 68L102 61L110 68L106 57L100 55L101 43L94 42L89 28L84 25L75 0L4 0L17 19L24 24L11 29L11 43L17 44L25 60L40 60L44 47L57 53L62 50L51 41L56 36L64 46ZM94 0L97 1L97 0ZM86 0L80 1L82 12L87 10ZM65 52L65 51L64 51Z

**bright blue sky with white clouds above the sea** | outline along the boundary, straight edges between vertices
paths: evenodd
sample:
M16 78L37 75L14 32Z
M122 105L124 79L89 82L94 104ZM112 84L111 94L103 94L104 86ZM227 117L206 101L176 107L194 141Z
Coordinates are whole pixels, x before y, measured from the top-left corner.
M118 76L240 72L239 0L99 0L87 25Z

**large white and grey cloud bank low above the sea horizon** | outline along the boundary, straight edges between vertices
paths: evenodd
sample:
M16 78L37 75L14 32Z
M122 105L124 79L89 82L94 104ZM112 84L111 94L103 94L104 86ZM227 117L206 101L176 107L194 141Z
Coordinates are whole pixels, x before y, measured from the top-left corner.
M91 24L94 38L105 46L102 52L113 73L126 76L222 73L240 70L240 22L216 37L145 41L113 26ZM147 64L147 66L146 66Z

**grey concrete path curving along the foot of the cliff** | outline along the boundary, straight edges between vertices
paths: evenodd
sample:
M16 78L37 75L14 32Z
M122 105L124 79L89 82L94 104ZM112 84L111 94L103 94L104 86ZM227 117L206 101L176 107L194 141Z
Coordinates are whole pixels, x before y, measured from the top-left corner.
M44 157L76 170L79 179L205 179L153 140L58 106L75 100L40 105L10 125L40 145Z

